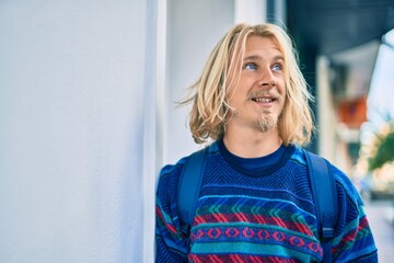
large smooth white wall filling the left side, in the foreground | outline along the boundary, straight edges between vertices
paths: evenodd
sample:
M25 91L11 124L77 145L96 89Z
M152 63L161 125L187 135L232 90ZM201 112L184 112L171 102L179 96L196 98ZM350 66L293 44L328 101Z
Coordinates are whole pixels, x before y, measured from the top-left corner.
M152 260L155 12L0 2L0 262Z

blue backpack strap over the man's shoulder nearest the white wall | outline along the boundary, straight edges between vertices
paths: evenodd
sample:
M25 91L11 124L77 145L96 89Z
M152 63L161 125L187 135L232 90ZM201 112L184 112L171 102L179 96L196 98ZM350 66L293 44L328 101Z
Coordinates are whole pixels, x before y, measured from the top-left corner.
M201 188L206 167L207 148L190 155L182 169L177 185L177 205L181 227L188 232L196 213L197 199Z

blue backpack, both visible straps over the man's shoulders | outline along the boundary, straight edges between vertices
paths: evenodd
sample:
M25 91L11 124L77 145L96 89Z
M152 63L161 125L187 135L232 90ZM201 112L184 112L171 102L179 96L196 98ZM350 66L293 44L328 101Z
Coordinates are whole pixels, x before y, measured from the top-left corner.
M331 240L338 216L338 201L335 180L327 160L303 150L308 174L316 207L317 232L323 248L323 262L333 262ZM189 231L196 213L197 199L206 168L208 148L194 152L187 158L177 185L177 205L181 225Z

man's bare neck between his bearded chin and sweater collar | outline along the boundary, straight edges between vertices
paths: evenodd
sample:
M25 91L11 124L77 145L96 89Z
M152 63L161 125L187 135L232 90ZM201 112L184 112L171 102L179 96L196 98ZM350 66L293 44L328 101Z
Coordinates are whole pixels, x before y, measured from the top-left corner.
M267 133L245 128L244 130L225 130L223 142L225 148L235 156L257 158L273 153L282 141L277 128Z

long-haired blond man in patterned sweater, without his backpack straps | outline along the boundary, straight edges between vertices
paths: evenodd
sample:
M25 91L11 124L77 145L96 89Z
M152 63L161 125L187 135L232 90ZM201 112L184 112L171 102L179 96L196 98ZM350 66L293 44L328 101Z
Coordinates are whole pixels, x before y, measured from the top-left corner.
M187 158L165 167L157 194L157 262L322 262L301 146L313 129L306 83L290 37L273 24L239 24L193 85L194 139L212 140L189 231L176 187ZM333 167L340 215L337 262L378 262L363 203ZM190 186L192 187L192 186Z

